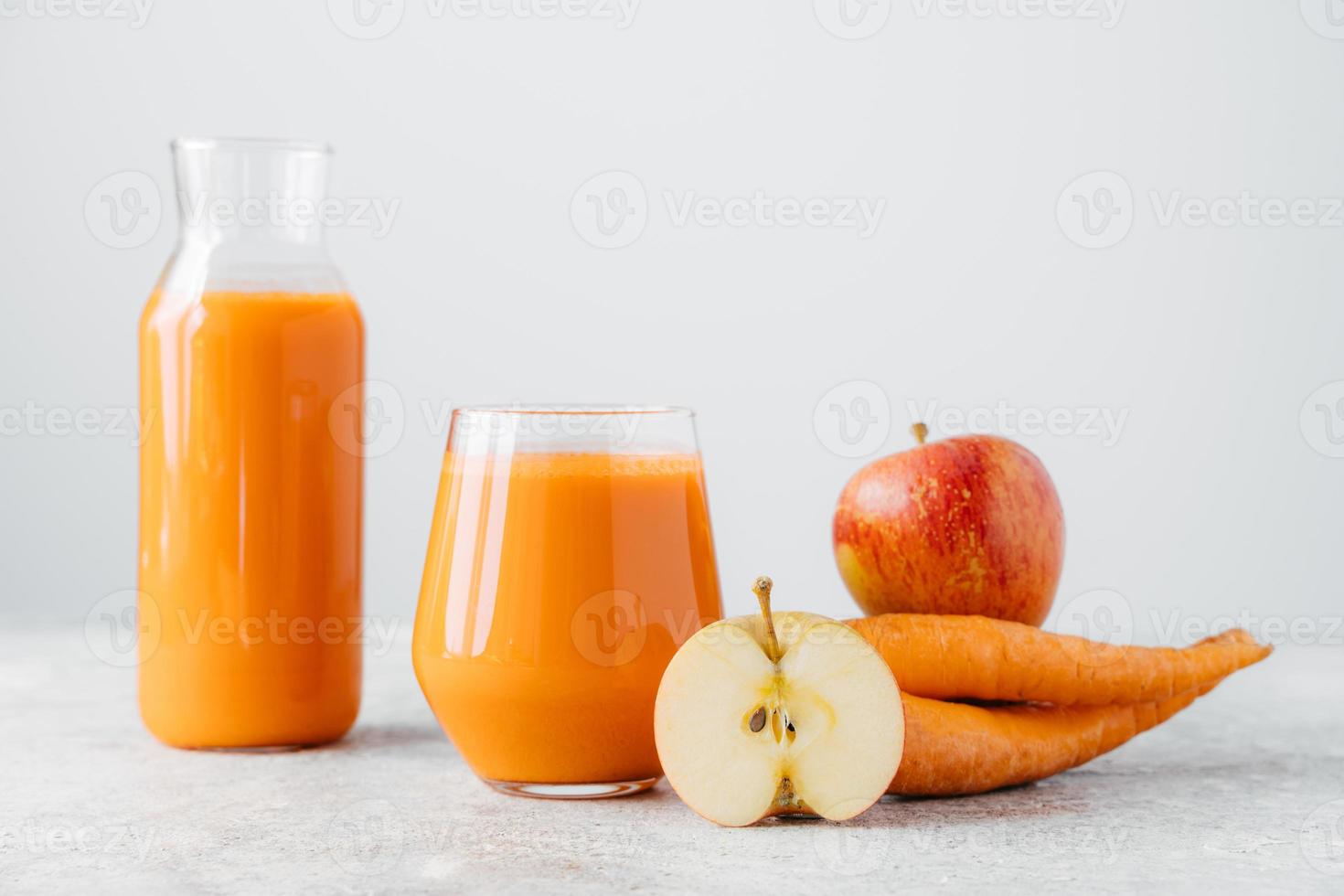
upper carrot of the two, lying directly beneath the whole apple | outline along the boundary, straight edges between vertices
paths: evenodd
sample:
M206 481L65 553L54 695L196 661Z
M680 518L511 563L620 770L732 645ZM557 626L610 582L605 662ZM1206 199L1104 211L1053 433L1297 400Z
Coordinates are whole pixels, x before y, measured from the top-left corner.
M986 617L888 613L848 619L905 693L939 700L1142 704L1168 700L1263 660L1242 630L1189 647L1118 646Z

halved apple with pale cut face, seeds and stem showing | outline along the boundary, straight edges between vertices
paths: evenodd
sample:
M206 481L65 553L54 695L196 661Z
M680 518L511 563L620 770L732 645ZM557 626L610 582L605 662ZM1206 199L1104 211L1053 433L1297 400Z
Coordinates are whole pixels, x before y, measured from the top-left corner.
M810 613L723 619L681 645L659 688L653 732L668 783L727 826L769 815L857 815L900 764L900 692L848 626ZM778 623L778 629L775 629Z

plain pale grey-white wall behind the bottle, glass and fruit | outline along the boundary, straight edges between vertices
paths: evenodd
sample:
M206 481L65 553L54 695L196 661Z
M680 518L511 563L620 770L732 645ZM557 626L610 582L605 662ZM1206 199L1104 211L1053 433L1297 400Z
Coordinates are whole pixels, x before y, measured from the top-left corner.
M176 219L167 203L146 242L105 244L105 179L169 199L179 134L331 141L335 195L399 203L380 238L331 235L368 373L405 408L367 466L370 613L409 629L449 404L695 407L727 610L769 572L780 606L848 615L845 480L909 445L909 402L1001 402L1126 415L1113 445L1008 433L1063 500L1056 606L1114 590L1146 641L1171 614L1339 618L1344 211L1316 219L1344 196L1344 26L1325 0L1136 1L1118 21L849 0L852 30L828 0L646 0L624 23L405 0L379 39L336 24L359 34L355 0L160 0L138 28L85 1L0 0L0 408L136 402ZM645 191L644 230L603 250L571 200L612 171ZM1071 187L1095 171L1114 176ZM1081 246L1068 211L1117 184L1114 244ZM679 222L665 196L757 191L884 211L860 238ZM1316 218L1164 223L1173 196L1243 192ZM832 450L852 380L879 387L870 433L890 426L866 458ZM136 450L110 423L48 429L0 437L0 609L74 621L134 587Z

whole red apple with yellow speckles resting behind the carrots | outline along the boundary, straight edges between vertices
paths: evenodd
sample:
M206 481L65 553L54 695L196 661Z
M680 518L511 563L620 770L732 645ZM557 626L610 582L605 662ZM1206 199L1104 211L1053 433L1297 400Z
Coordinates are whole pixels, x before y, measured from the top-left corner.
M840 493L836 564L864 613L958 613L1040 625L1064 562L1064 513L1035 454L996 435L919 445Z

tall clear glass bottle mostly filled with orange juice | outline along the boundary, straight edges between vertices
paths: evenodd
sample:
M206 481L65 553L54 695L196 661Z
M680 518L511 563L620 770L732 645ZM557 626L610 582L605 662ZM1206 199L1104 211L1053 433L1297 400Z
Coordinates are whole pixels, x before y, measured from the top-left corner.
M360 695L364 328L323 246L329 150L173 144L140 318L140 713L175 747L317 744Z

